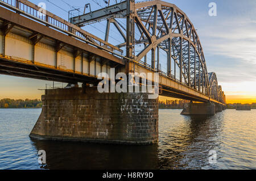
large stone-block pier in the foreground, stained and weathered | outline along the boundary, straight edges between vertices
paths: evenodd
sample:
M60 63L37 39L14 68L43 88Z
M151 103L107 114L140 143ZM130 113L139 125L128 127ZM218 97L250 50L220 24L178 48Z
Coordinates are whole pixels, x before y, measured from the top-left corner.
M158 99L147 93L102 93L97 87L46 90L30 137L49 140L155 144Z

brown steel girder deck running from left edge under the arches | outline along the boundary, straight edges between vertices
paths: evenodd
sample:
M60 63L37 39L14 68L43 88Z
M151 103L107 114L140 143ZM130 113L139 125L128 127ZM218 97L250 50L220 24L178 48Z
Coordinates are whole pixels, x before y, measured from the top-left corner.
M3 7L0 7L0 26L0 74L59 82L96 83L97 74L109 74L110 68L125 72L126 61L113 53ZM129 64L130 70L155 72L138 62L133 63ZM160 85L164 96L220 103L162 73Z

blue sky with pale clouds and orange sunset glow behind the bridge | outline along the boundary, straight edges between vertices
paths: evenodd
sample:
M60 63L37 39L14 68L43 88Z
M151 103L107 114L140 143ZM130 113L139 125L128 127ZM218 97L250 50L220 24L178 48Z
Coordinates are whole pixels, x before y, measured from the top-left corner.
M203 46L207 70L217 74L218 84L225 91L227 102L256 102L256 1L165 1L174 3L193 23ZM73 9L71 6L81 8L81 11L85 3L90 3L92 10L105 7L103 0L31 0L31 2L35 4L45 2L48 11L64 19L68 19L67 11ZM217 16L209 16L210 2L216 3ZM94 35L103 39L104 33L101 30L105 31L105 25L99 23L97 29L88 26L85 30L93 30ZM110 41L113 44L119 43L112 37ZM0 75L0 99L40 99L44 92L38 89L43 89L46 83L51 82Z

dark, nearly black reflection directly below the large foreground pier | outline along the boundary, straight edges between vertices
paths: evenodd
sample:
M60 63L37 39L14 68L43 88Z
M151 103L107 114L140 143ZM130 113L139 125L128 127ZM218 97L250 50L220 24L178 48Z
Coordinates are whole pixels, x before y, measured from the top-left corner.
M129 146L32 139L47 154L44 169L157 169L158 145Z

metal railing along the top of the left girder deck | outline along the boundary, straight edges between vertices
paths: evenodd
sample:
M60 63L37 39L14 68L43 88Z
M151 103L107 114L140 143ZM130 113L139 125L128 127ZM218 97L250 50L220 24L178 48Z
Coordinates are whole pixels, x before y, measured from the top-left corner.
M86 43L93 45L94 47L106 50L110 53L122 56L123 50L115 47L112 44L98 38L82 30L80 27L75 26L72 23L52 14L49 11L36 6L27 0L0 0L0 5L7 7L11 10L28 16L34 20L46 24L46 26L55 28L61 32L67 33L70 36L76 37L79 40L85 41Z

